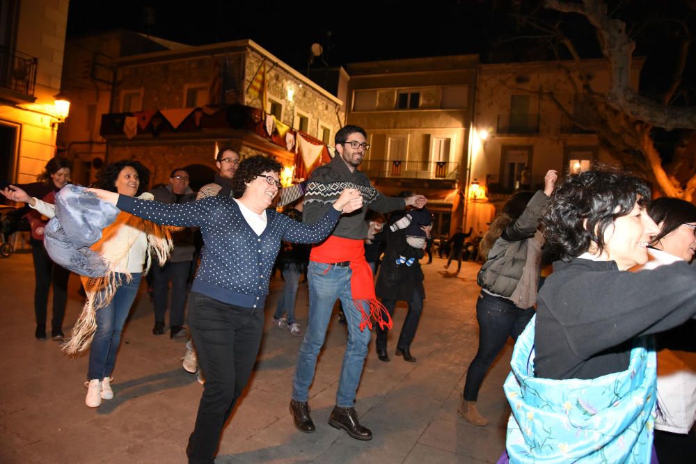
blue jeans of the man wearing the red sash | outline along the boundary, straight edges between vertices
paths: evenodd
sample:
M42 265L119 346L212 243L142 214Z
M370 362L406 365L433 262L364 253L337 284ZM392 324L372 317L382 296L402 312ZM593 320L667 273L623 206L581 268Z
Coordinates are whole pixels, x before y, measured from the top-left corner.
M336 406L352 408L356 391L363 373L367 344L370 343L370 330L360 331L361 314L355 309L350 287L351 269L332 264L310 261L307 270L309 281L309 314L307 331L300 345L295 376L292 381L292 399L308 401L309 387L312 385L317 355L324 345L326 329L331 321L331 312L336 299L340 298L345 310L348 327L348 341L343 356ZM365 305L365 311L369 311Z

